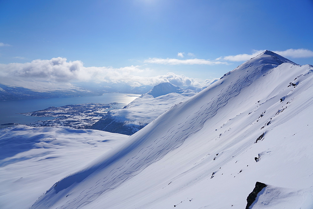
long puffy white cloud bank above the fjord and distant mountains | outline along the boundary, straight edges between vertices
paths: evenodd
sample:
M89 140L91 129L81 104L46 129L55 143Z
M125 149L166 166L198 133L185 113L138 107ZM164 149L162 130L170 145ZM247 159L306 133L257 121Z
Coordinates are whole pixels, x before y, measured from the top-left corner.
M156 85L170 82L178 86L203 86L207 81L189 78L184 75L167 73L152 77L142 76L151 71L142 66L113 67L84 67L79 61L67 61L57 57L50 60L36 59L28 63L0 64L0 78L34 80L56 83L73 81L94 81L107 83L126 83L131 86Z

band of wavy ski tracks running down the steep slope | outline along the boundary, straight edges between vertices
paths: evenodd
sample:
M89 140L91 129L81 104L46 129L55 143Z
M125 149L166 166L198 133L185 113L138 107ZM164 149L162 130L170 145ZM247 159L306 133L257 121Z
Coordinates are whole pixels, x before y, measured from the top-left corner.
M79 208L87 205L105 191L116 188L128 178L138 174L151 163L160 160L170 150L182 145L185 139L202 129L205 121L216 115L218 110L228 103L229 99L238 95L244 87L252 84L254 77L258 75L264 67L265 65L259 66L254 69L253 73L249 73L242 79L240 79L240 75L236 84L233 85L232 82L229 84L226 91L222 89L219 95L210 100L208 105L205 106L205 109L204 106L202 106L198 112L189 115L185 121L180 123L179 127L172 127L167 131L166 135L154 140L150 146L142 148L135 156L128 158L125 162L119 162L122 166L111 170L104 178L92 184L94 186L83 190L78 197L69 200L65 205L58 208ZM191 123L189 122L189 117L194 117ZM125 158L121 159L125 160Z

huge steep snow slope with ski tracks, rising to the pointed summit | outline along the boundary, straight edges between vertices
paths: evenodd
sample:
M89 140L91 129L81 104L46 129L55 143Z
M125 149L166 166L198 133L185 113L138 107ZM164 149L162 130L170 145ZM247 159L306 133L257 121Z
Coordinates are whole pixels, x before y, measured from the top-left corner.
M311 195L312 72L265 51L55 183L32 208L244 208L256 181Z

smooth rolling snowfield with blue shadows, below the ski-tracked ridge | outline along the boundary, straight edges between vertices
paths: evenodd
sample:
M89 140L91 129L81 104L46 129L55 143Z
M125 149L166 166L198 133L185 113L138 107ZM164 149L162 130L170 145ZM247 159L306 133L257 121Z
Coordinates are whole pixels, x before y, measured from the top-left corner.
M55 181L128 136L98 130L29 127L0 131L0 208L29 208Z

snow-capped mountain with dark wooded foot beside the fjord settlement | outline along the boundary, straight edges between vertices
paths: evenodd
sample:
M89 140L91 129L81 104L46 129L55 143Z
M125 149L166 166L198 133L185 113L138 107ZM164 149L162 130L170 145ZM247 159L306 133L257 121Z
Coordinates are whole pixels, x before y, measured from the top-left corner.
M91 129L132 135L175 104L197 92L170 83L160 83L123 109L110 110Z

